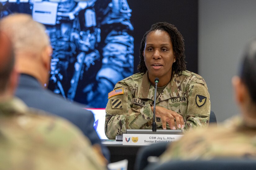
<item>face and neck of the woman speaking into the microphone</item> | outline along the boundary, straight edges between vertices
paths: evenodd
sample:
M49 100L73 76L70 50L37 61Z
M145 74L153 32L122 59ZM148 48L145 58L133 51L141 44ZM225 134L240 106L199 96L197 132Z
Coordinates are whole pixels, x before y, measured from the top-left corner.
M156 77L159 78L159 83L161 80L170 81L173 61L176 57L173 53L171 37L167 32L160 30L150 32L147 35L143 56L151 83L154 83Z

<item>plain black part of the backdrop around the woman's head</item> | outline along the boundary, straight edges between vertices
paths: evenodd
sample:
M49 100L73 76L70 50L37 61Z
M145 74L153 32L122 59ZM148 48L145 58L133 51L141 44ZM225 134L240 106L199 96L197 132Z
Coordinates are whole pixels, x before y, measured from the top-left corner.
M175 25L185 40L187 70L198 72L198 1L197 0L128 0L134 26L134 73L139 64L141 39L152 24Z

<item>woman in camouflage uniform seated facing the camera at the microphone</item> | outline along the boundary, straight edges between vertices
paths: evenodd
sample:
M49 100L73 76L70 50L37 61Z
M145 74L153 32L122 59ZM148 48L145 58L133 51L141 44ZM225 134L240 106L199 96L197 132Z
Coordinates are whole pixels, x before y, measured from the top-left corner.
M126 129L152 129L155 78L159 78L157 129L208 126L208 88L200 75L186 70L184 50L184 39L174 25L159 22L151 26L141 40L140 73L119 81L109 93L105 121L108 138Z

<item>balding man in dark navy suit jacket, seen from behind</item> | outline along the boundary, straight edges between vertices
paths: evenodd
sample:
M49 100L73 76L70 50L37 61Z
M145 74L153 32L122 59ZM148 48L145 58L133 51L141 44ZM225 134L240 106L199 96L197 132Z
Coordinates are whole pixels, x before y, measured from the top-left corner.
M52 47L43 24L34 21L31 15L13 14L0 20L0 29L13 42L17 70L20 80L16 96L29 107L63 117L78 126L92 145L110 160L110 153L103 147L95 131L94 116L86 106L70 103L62 96L48 90Z

